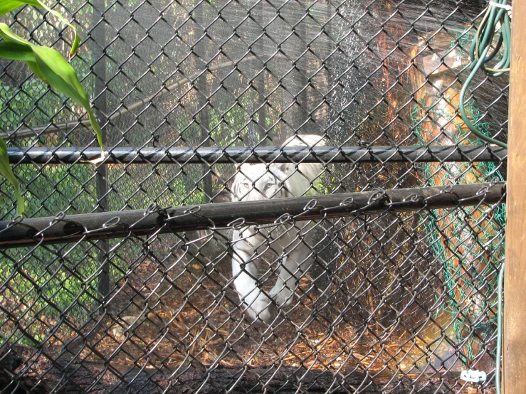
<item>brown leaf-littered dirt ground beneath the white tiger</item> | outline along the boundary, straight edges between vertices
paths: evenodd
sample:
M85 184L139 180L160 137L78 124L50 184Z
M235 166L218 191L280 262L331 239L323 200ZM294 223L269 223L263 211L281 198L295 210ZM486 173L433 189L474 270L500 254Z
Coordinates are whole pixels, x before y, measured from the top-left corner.
M429 348L446 344L431 341L430 346L420 336L384 332L374 321L357 326L352 307L345 305L348 300L337 293L320 296L308 275L293 305L279 313L273 309L272 324L251 324L238 306L228 256L185 258L169 250L161 255L156 250L130 267L130 275L124 275L108 297L107 309L80 329L87 346L80 346L77 336L75 346L68 348L83 348L79 357L85 361L110 359L146 368L219 364L335 373L440 371L433 367L438 359L433 361ZM273 279L268 283L270 289ZM60 336L62 344L65 336Z

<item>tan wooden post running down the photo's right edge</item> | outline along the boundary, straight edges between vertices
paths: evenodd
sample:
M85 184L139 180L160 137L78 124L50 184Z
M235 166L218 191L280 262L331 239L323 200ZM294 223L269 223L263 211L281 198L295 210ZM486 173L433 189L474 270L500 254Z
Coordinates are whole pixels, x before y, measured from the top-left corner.
M507 160L503 393L526 391L526 1L513 1Z

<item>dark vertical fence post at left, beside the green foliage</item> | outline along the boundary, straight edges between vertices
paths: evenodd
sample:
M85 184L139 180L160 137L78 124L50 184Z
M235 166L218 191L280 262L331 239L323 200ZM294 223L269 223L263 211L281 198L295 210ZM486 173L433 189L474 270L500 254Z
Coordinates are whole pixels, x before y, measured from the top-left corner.
M93 75L95 75L95 115L98 121L103 126L107 121L107 97L106 97L106 26L104 21L104 13L106 8L105 0L93 1L93 32L91 36L93 41ZM106 144L106 129L102 134L102 142ZM98 211L108 211L107 201L107 166L100 164L97 168L96 189L98 200ZM100 275L98 277L98 292L101 298L107 296L110 292L110 263L107 260L107 252L110 250L110 245L107 240L99 240L98 243L97 261L100 267Z

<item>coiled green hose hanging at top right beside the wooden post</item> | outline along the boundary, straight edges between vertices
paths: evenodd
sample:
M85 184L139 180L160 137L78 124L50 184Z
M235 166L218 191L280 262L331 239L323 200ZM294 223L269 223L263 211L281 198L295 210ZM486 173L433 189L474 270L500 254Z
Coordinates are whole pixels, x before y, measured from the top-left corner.
M475 125L470 122L470 119L465 113L464 108L465 92L467 92L468 86L479 70L483 70L484 73L492 77L497 77L498 75L502 75L503 73L510 70L511 23L510 15L507 12L507 0L494 0L493 4L490 3L488 6L484 17L480 22L480 26L478 27L475 39L473 40L473 43L471 43L471 72L468 75L468 78L466 78L461 90L459 110L461 112L463 121L465 122L466 126L468 126L470 131L473 132L473 134L486 142L496 144L499 147L507 148L507 144L505 144L505 142L498 141L498 139L494 139L482 134L475 127ZM498 28L499 25L500 28ZM492 44L495 41L495 34L498 32L500 32L500 34L496 40L496 43L492 47ZM503 50L502 58L497 64L490 66L489 62L495 58L495 55L497 55L501 49Z

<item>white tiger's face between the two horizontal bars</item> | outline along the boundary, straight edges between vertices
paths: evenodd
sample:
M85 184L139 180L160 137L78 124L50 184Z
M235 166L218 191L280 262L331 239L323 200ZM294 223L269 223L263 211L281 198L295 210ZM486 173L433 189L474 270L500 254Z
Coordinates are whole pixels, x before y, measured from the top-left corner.
M287 176L278 166L243 164L233 181L236 201L261 201L268 198L290 197L286 190Z

